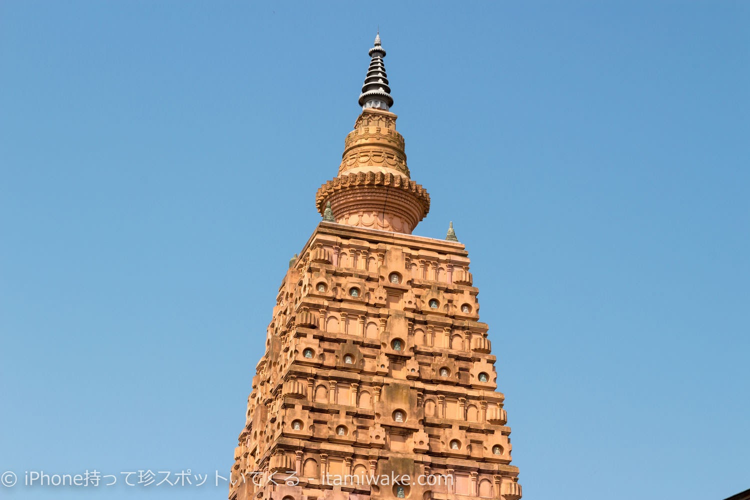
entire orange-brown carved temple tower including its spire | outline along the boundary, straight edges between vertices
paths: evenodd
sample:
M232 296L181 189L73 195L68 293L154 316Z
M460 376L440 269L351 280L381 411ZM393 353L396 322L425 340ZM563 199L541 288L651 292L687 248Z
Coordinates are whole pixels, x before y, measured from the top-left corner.
M229 499L520 499L468 253L452 224L411 234L430 196L410 178L380 35L369 55L362 114L317 191L323 221L279 287Z

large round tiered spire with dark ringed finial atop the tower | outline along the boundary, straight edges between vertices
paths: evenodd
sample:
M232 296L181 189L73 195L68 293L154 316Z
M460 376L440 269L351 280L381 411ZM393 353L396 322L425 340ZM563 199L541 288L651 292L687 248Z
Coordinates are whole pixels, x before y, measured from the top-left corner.
M362 85L362 114L344 142L338 177L323 184L315 199L320 214L330 203L337 223L411 234L430 210L430 194L410 178L404 136L395 114L383 58L375 37Z

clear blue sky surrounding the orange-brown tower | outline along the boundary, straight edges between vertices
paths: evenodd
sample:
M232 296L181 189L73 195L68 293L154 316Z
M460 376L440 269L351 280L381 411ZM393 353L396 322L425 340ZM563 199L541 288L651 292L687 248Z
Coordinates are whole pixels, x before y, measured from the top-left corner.
M523 498L750 487L750 4L360 4L0 1L0 496L226 497L378 25Z

